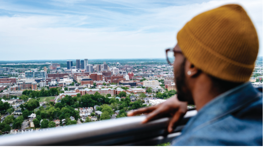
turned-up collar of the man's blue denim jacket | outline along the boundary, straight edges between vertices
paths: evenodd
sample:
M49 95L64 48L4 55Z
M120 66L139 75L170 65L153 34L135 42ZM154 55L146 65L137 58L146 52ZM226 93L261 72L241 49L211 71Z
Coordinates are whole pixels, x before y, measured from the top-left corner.
M203 106L198 114L189 120L183 132L196 131L220 117L233 113L255 101L259 94L250 82L230 89Z

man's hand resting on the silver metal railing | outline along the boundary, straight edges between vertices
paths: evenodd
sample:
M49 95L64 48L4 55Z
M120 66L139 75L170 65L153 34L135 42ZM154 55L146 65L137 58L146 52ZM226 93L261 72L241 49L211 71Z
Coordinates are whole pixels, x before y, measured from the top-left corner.
M166 102L152 107L145 107L139 110L128 112L128 116L135 116L139 114L148 114L146 119L142 123L147 123L154 119L166 117L167 115L172 116L168 124L168 132L172 132L176 123L185 115L187 112L187 102L181 102L176 96L169 98Z

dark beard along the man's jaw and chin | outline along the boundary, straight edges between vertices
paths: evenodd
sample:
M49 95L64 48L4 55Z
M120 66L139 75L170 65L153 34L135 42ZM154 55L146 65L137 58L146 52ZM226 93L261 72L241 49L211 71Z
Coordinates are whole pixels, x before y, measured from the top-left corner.
M188 105L194 105L194 99L192 93L189 90L188 84L186 83L185 62L186 62L186 58L180 65L179 70L177 70L174 73L176 89L177 89L177 98L179 101L188 102Z

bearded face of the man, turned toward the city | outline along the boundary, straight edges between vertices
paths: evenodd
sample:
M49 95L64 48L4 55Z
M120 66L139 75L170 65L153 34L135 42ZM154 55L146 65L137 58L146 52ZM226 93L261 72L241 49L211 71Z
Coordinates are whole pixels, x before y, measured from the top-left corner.
M175 51L181 51L179 45L174 47ZM194 105L194 100L189 89L185 77L185 62L186 58L183 54L175 53L174 65L174 81L176 83L177 98L179 101L188 102L189 105Z

